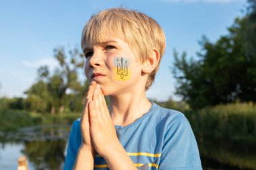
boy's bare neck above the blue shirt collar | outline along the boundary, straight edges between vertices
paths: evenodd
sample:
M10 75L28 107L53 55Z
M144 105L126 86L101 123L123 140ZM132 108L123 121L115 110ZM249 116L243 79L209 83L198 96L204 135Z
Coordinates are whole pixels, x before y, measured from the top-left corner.
M110 116L115 125L127 126L146 114L152 103L144 93L126 93L119 96L109 96Z

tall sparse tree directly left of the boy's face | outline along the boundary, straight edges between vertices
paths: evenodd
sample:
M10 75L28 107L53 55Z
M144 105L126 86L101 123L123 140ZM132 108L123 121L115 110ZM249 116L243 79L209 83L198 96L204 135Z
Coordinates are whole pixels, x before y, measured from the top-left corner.
M84 66L84 60L82 60L84 55L77 48L74 48L69 50L70 57L68 58L64 48L56 48L54 56L59 62L60 69L51 77L49 89L53 92L55 105L59 108L59 112L62 113L65 105L67 105L67 89L71 93L79 93L79 90L82 89L82 85L78 81L77 70L82 69ZM52 108L51 112L53 110L55 108Z

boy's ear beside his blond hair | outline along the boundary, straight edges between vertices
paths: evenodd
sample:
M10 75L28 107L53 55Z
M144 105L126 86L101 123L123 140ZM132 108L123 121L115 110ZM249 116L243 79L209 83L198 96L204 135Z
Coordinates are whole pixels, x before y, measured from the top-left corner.
M153 48L152 55L150 56L150 58L146 59L143 62L142 72L146 74L151 73L156 68L156 65L158 64L159 60L159 51L156 48Z

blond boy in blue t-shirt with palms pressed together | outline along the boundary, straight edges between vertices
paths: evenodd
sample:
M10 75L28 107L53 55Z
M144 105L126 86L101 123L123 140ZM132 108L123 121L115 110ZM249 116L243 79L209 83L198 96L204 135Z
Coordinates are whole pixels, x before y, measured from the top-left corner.
M185 116L146 98L165 46L162 28L143 13L116 8L90 18L82 49L92 83L64 169L201 169Z

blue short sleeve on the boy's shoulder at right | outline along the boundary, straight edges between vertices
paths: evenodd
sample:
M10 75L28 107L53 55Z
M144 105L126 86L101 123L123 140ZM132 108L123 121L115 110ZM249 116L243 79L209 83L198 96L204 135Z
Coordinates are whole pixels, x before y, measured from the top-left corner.
M201 170L197 142L183 114L177 114L165 129L159 170Z

